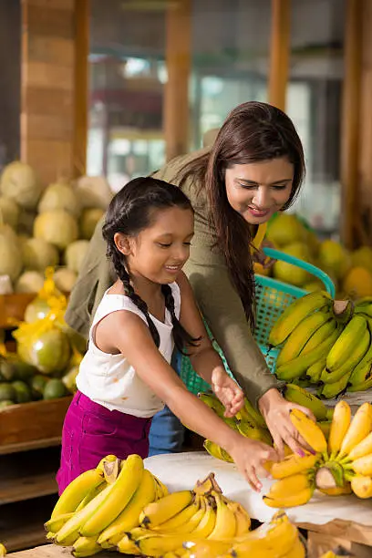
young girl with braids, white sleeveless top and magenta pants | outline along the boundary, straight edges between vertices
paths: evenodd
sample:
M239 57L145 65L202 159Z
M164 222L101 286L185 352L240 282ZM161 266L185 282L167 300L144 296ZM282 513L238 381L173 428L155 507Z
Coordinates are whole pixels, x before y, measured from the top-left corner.
M171 368L174 344L211 386L232 417L243 391L212 348L181 269L189 258L194 216L180 188L154 178L130 181L109 205L103 236L117 281L94 316L78 393L62 433L59 493L108 454L142 458L151 418L164 406L191 430L226 449L254 490L276 451L230 429L191 394Z

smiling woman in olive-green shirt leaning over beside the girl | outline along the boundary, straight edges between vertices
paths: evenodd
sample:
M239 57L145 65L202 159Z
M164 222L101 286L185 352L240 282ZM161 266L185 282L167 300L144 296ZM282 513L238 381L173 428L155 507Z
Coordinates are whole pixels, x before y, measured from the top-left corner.
M171 160L154 174L180 186L191 200L195 236L184 271L233 376L261 410L281 456L284 443L301 454L302 440L290 420L296 406L282 397L253 339L253 238L274 212L294 202L304 175L304 152L292 121L258 102L233 109L211 148ZM99 223L71 294L67 323L87 335L111 282Z

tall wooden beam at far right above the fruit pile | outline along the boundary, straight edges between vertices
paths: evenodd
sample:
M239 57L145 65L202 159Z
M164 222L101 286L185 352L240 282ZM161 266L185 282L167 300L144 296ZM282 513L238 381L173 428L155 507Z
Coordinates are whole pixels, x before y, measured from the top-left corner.
M361 124L362 1L347 0L345 17L345 79L341 113L341 237L349 249L354 247L355 222L360 220L356 200Z

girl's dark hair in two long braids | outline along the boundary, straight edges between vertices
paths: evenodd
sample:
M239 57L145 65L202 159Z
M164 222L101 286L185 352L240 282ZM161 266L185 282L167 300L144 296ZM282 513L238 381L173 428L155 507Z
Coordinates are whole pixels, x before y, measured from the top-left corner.
M152 177L140 177L129 181L114 196L109 204L109 210L102 229L103 238L107 243L107 256L111 260L121 283L124 285L125 293L145 315L150 334L158 347L160 346L158 329L151 320L147 304L130 284L130 270L125 256L117 248L114 236L116 233L136 236L151 225L157 211L171 207L180 207L181 209L193 212L189 198L177 186ZM195 346L199 339L191 337L177 319L170 285L162 284L161 292L164 295L165 305L171 314L175 345L181 351L183 351L185 346Z

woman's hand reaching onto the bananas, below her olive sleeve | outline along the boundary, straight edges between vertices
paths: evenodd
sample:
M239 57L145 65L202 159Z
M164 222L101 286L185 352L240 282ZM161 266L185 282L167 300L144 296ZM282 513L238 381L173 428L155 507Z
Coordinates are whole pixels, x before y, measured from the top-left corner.
M301 457L305 455L305 449L314 453L314 449L306 444L298 430L294 428L289 416L291 408L299 408L305 415L315 420L313 413L308 408L286 401L279 391L274 388L266 391L263 397L260 398L258 407L273 436L279 459L284 459L284 444L287 444L294 453Z

